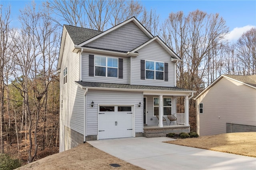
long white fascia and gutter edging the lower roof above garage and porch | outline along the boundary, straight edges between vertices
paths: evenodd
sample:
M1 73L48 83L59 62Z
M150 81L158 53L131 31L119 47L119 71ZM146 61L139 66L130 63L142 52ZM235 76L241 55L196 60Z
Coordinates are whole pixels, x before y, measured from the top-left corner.
M76 82L75 82L76 83ZM82 86L76 83L78 87L81 89L92 89L92 90L110 90L110 91L140 91L144 92L144 94L152 94L152 93L163 93L164 95L168 95L168 93L176 94L182 93L184 96L190 95L192 92L196 91L182 91L182 90L155 90L155 89L127 89L127 88L114 88L114 87L90 87L90 86Z

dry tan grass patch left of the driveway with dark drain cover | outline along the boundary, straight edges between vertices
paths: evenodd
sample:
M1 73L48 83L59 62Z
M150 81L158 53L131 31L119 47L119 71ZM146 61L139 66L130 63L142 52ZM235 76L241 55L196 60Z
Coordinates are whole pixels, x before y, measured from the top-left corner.
M114 168L110 164L119 164ZM84 170L84 169L118 169L118 170L143 170L142 168L116 158L102 150L94 148L88 143L80 144L76 148L53 154L26 164L19 170Z

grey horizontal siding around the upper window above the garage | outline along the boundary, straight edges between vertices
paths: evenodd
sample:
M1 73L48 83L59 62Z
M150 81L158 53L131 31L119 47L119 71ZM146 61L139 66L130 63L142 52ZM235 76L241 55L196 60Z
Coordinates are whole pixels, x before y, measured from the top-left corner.
M93 54L94 56L96 54ZM114 57L114 58L122 58L115 57L111 55L99 55L104 57ZM82 54L82 80L90 81L90 82L104 82L104 83L120 83L120 84L128 84L129 83L129 58L123 59L123 78L116 77L102 77L102 76L89 76L89 54ZM94 67L95 70L95 67Z

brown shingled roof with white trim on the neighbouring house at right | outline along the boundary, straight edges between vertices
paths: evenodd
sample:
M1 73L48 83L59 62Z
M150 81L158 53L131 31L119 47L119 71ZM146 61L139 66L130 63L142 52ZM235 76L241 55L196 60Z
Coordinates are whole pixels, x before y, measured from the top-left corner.
M204 92L206 92L208 89L210 89L215 83L217 83L223 77L256 89L256 75L220 75L220 77L218 77L216 80L214 80L214 82L212 82L210 85L208 85L208 87L206 87L194 99L198 99L198 97L200 97L202 94L204 94Z

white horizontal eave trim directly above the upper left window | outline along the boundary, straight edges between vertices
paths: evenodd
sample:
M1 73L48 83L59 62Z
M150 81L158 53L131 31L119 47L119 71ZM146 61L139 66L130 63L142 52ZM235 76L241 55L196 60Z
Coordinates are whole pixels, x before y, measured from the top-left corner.
M83 49L84 52L89 52L89 53L109 54L109 55L116 55L116 56L123 56L123 57L137 57L139 55L139 53L132 53L129 51L127 53L122 53L118 51L109 51L109 50L96 49L96 48L90 48L90 47L79 47L77 45L74 45L72 52L78 53L78 51L81 51L81 49Z

